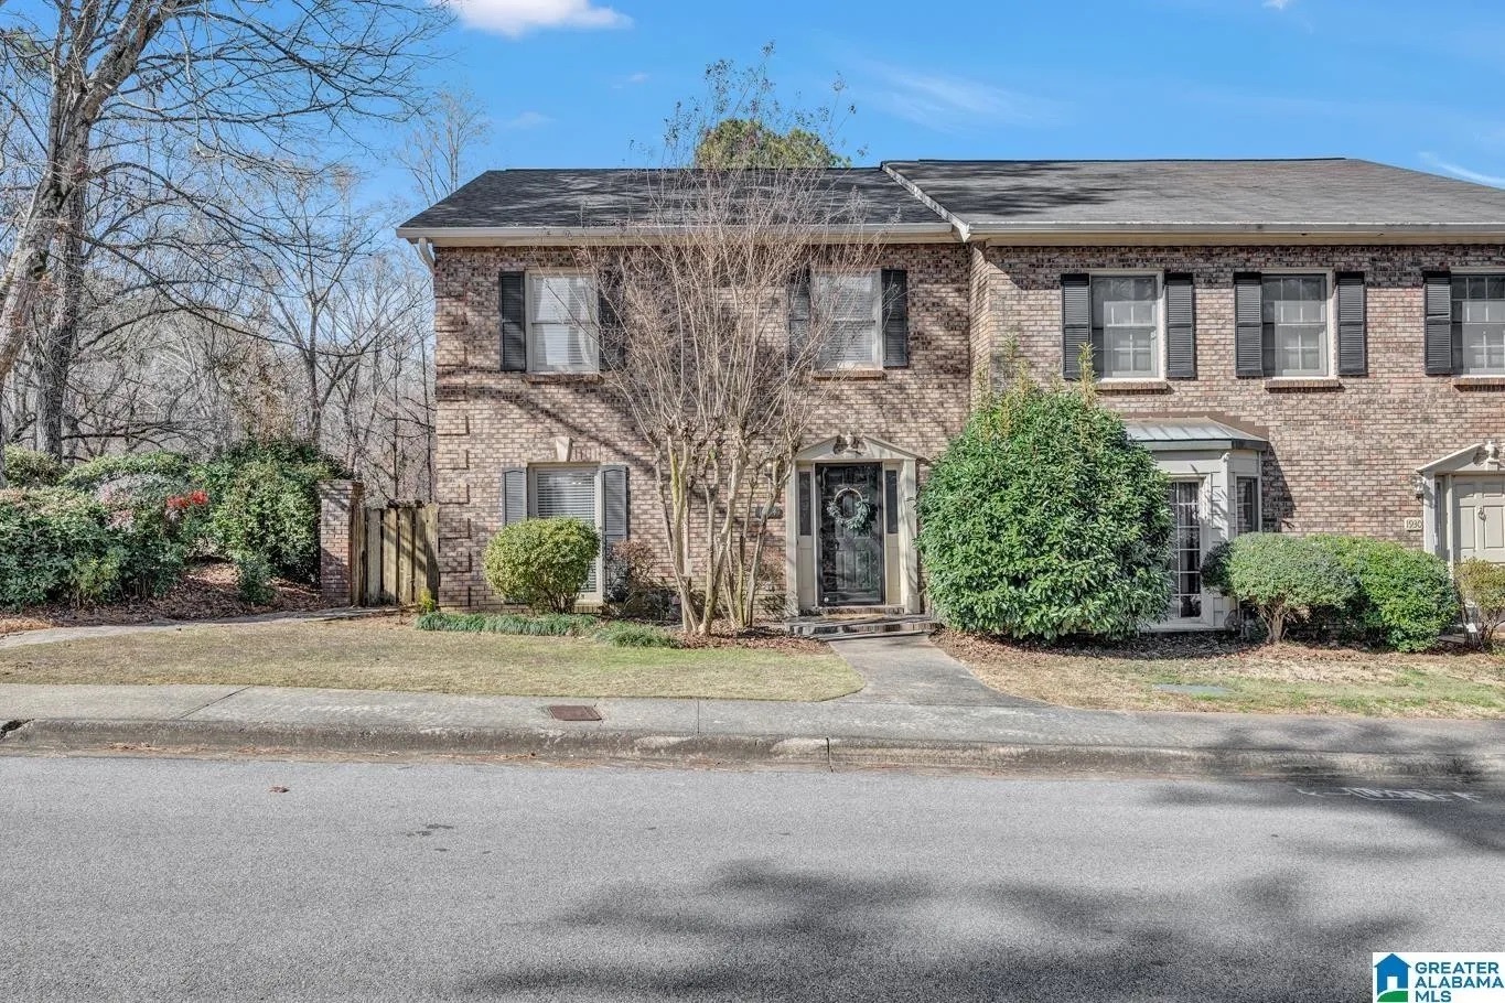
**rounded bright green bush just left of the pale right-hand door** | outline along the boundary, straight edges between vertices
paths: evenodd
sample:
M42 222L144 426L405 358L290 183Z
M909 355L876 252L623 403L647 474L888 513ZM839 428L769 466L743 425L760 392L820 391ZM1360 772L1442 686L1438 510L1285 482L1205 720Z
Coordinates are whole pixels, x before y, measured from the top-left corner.
M1389 540L1315 535L1358 591L1339 617L1370 644L1425 651L1458 620L1458 589L1442 558Z

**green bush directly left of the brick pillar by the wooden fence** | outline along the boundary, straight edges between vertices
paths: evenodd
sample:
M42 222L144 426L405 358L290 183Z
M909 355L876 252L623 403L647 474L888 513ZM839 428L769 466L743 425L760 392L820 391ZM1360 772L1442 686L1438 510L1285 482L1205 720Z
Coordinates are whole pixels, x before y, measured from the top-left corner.
M205 463L221 553L263 558L298 582L319 577L319 481L346 477L337 462L296 442L238 447Z

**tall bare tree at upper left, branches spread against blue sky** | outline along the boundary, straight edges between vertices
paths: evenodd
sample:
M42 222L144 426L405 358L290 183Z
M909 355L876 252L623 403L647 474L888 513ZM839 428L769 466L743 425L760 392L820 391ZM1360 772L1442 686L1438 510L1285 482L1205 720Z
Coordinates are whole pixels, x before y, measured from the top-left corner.
M0 271L0 382L30 335L74 192L114 176L199 206L218 176L286 173L301 150L352 117L405 117L442 8L424 0L45 0L0 30L0 95L26 125L29 153ZM105 140L105 141L101 141ZM164 144L188 156L154 156ZM256 221L203 211L209 229ZM149 256L147 256L149 257ZM3 466L0 466L3 483Z

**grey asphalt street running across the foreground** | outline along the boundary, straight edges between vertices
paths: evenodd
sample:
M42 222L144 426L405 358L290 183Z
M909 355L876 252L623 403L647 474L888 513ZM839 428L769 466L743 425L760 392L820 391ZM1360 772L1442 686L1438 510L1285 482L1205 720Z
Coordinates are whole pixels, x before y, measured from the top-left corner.
M1505 947L1416 786L5 756L0 998L1370 998Z

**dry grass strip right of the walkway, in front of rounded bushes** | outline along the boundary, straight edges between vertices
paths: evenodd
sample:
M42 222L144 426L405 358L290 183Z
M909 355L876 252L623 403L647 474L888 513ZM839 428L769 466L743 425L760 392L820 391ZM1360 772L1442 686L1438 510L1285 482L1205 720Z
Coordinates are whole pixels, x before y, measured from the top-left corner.
M1367 717L1505 717L1505 657L1239 644L1221 635L1145 636L1117 647L1040 647L941 635L989 686L1105 710L1215 710ZM1157 690L1221 686L1227 695Z

